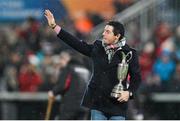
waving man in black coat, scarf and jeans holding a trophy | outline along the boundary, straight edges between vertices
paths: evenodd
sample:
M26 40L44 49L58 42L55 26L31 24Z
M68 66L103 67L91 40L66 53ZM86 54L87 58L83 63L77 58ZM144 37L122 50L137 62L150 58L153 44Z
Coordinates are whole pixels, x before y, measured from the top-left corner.
M134 96L141 82L141 75L138 54L126 44L124 26L120 22L110 21L104 28L102 40L87 44L57 25L49 10L45 11L45 17L49 26L62 41L92 59L93 74L82 100L82 106L91 110L91 119L125 120L127 102ZM129 86L127 86L127 75L123 80L124 91L121 91L118 98L112 98L112 89L119 83L117 67L122 61L121 52L127 54L130 51L132 58L128 62Z

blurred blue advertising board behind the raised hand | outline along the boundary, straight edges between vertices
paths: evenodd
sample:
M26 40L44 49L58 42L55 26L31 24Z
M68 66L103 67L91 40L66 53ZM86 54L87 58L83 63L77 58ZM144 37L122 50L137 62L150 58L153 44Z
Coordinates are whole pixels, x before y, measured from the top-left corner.
M50 9L56 19L66 15L61 0L0 0L0 22L19 22L28 17L42 20L45 9Z

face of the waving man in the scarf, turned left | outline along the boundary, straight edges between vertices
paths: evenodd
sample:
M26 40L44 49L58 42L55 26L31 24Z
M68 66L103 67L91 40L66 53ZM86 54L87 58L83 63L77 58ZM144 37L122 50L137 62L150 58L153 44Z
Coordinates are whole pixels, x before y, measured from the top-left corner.
M113 44L118 41L120 34L114 35L113 26L106 25L103 32L103 41L106 44Z

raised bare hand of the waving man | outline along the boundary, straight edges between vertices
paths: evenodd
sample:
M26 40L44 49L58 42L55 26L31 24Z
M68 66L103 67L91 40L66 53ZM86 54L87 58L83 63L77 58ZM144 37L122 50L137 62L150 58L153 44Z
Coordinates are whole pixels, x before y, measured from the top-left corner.
M50 10L45 10L44 16L46 17L49 26L50 26L52 29L54 29L54 28L56 27L56 22L55 22L54 16L53 16L53 14L51 13L51 11L50 11Z

